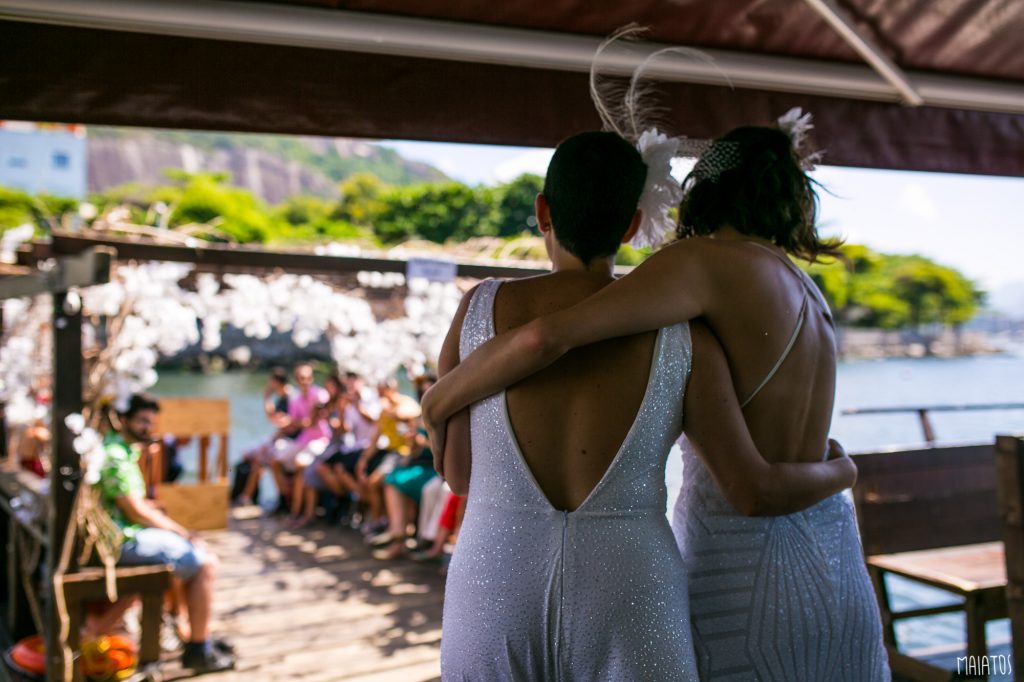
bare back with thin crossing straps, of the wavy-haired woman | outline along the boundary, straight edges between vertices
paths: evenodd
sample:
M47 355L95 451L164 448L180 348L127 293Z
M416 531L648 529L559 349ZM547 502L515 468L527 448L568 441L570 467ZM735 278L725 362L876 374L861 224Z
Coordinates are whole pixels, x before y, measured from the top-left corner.
M769 462L821 461L835 401L837 352L820 293L774 247L700 241L716 290L730 292L727 301L710 306L706 317L725 350L741 402L784 355L743 409L758 450Z

